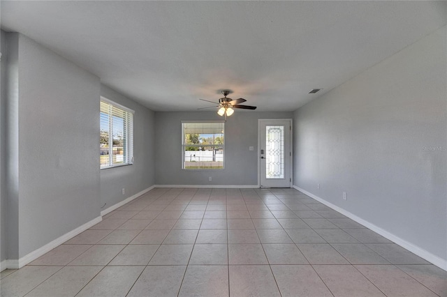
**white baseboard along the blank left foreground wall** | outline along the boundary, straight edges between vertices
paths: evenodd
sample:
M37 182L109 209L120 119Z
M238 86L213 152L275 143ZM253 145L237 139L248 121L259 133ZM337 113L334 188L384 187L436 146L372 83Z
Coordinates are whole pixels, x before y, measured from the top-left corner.
M38 257L41 257L43 254L50 252L50 250L57 248L57 246L61 245L62 243L68 241L68 239L71 239L75 237L76 235L82 233L83 231L89 229L90 227L94 226L95 224L98 224L98 222L101 222L103 220L102 217L94 218L93 220L82 224L80 227L73 229L69 231L68 233L60 236L59 238L54 239L54 241L51 241L50 243L47 243L46 245L43 245L43 247L38 248L37 250L34 250L33 252L30 252L29 254L25 255L24 257L20 259L8 259L1 262L1 270L5 270L7 268L10 269L18 269L22 268L23 266L29 264L31 261L34 261Z

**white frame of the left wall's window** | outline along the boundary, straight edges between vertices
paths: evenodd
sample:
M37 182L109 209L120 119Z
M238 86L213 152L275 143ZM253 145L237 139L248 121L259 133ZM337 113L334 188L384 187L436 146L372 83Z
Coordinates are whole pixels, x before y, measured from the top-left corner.
M109 156L112 156L112 158L109 157L109 163L108 166L101 166L101 142L100 142L100 164L99 167L101 170L103 169L110 169L110 168L116 168L116 167L123 167L123 166L129 166L129 165L133 165L134 163L134 155L133 155L133 119L134 119L134 115L135 115L135 111L133 109L130 109L129 107L125 107L123 105L120 105L117 102L114 102L112 100L109 100L108 98L104 98L103 96L101 96L100 99L100 135L101 135L101 102L104 102L105 104L111 105L112 107L115 107L116 109L121 109L122 112L125 112L127 114L127 116L130 116L130 119L127 120L127 125L126 125L126 132L124 133L126 135L126 140L124 141L126 143L126 162L123 163L115 163L113 164L113 137L111 136L110 133L110 128L112 128L112 121L110 121L110 118L112 117L112 114L110 114L110 111L108 113L108 121L109 121ZM110 148L112 148L112 153L110 153Z

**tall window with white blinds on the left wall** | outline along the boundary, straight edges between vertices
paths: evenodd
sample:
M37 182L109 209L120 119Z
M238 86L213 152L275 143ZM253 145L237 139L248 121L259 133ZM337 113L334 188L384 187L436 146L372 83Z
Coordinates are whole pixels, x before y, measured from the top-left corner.
M134 111L101 98L100 112L101 169L133 164Z

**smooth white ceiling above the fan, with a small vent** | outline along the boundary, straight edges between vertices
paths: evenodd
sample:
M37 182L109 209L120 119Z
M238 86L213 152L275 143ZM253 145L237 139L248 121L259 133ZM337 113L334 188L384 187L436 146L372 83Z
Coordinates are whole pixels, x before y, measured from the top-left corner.
M446 24L444 1L1 1L18 31L155 111L234 91L293 111ZM323 88L315 95L311 89ZM211 104L210 104L211 105ZM209 109L205 109L209 110Z

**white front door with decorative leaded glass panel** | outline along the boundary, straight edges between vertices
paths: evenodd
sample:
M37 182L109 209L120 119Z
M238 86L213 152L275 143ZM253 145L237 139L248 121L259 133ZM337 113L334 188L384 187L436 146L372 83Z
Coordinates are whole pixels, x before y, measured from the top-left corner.
M258 120L259 184L261 188L292 186L292 120Z

